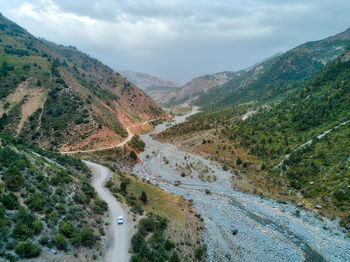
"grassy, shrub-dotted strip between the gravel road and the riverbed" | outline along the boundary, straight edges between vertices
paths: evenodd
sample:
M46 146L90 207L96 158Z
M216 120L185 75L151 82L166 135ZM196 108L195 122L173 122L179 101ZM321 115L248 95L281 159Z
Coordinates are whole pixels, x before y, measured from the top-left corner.
M174 252L184 261L205 261L202 222L191 203L118 169L106 187L131 207L135 220L142 216L131 240L131 261L170 261ZM195 258L196 249L202 250L200 258Z

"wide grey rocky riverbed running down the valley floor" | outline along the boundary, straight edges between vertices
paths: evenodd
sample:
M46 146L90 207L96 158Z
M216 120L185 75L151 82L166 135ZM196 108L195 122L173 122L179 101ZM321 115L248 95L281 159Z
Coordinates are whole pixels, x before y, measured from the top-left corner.
M186 117L176 117L171 125ZM158 125L153 133L168 127ZM350 239L337 221L236 191L232 174L218 164L151 134L141 138L146 148L133 173L193 201L204 219L209 261L350 261Z

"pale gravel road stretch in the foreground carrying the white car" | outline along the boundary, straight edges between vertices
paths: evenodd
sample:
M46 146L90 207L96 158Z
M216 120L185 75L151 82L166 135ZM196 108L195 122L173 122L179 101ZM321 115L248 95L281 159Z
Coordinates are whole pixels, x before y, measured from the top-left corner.
M105 182L112 176L112 172L105 166L84 161L92 171L92 185L97 194L107 202L110 218L109 232L112 235L112 241L107 246L106 262L126 262L129 261L128 253L131 237L131 225L127 219L127 212L122 208L121 204L112 196L107 188L104 187ZM118 216L124 217L124 224L118 225Z

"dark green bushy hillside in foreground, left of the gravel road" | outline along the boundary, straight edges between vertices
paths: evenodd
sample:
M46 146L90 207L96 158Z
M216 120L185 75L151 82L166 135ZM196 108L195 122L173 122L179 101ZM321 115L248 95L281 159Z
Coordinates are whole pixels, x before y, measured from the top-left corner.
M0 256L97 258L104 249L107 204L90 185L87 166L13 139L0 142Z

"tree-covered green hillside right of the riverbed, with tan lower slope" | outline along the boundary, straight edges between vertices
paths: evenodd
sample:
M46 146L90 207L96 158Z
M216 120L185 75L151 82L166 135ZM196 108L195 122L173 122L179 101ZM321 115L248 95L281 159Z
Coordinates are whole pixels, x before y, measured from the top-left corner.
M346 226L349 56L347 52L336 58L280 103L258 107L245 120L241 116L247 105L216 109L191 117L159 138L220 162L237 177L235 187L295 204L303 201L300 205L342 217Z

